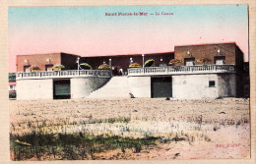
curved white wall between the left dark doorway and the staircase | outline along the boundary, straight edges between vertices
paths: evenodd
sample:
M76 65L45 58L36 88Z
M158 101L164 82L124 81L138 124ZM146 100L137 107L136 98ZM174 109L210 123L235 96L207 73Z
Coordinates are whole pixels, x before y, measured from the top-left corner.
M71 98L85 98L104 85L110 78L74 78L70 80Z

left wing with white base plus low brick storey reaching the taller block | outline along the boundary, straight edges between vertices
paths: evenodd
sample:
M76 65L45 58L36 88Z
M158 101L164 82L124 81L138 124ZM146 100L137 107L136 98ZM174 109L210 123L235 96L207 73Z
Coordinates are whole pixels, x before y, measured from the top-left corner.
M164 62L166 65L173 57L173 52L145 56L132 54L97 57L80 57L66 53L18 55L17 99L85 98L111 79L111 70L97 70L103 63L127 72L131 62L142 64L144 59L156 58L156 64ZM78 58L80 63L89 63L94 70L78 71ZM65 66L65 70L52 71L52 67L59 64ZM40 71L32 72L32 66L38 67Z

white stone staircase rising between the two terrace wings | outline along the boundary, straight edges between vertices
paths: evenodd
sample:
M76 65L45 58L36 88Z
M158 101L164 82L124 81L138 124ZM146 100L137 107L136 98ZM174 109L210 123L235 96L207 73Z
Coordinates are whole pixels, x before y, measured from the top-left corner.
M127 77L112 77L109 82L93 91L88 98L130 98Z

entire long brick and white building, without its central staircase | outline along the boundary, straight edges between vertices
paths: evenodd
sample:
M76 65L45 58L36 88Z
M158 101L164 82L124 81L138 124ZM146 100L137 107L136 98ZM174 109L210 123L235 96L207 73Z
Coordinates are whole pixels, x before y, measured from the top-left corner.
M78 70L77 61L93 70ZM155 59L154 67L129 68ZM172 66L168 62L179 60ZM135 97L218 98L244 96L243 53L235 42L180 45L174 52L86 56L53 53L17 56L17 98L86 98L111 83L111 70L97 70L102 63L127 72L129 93ZM55 64L65 71L51 70ZM30 72L36 65L41 71ZM115 76L115 75L114 75ZM116 81L114 81L116 82ZM118 81L117 81L118 82ZM116 88L118 94L118 88ZM108 97L107 91L103 93ZM127 93L128 94L128 93Z

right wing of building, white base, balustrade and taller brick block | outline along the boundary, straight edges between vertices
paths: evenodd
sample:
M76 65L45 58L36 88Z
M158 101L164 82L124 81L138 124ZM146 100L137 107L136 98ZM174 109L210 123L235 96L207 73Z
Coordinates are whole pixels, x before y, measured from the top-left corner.
M175 46L174 57L181 62L172 67L130 69L134 96L183 99L244 95L243 53L234 42Z

